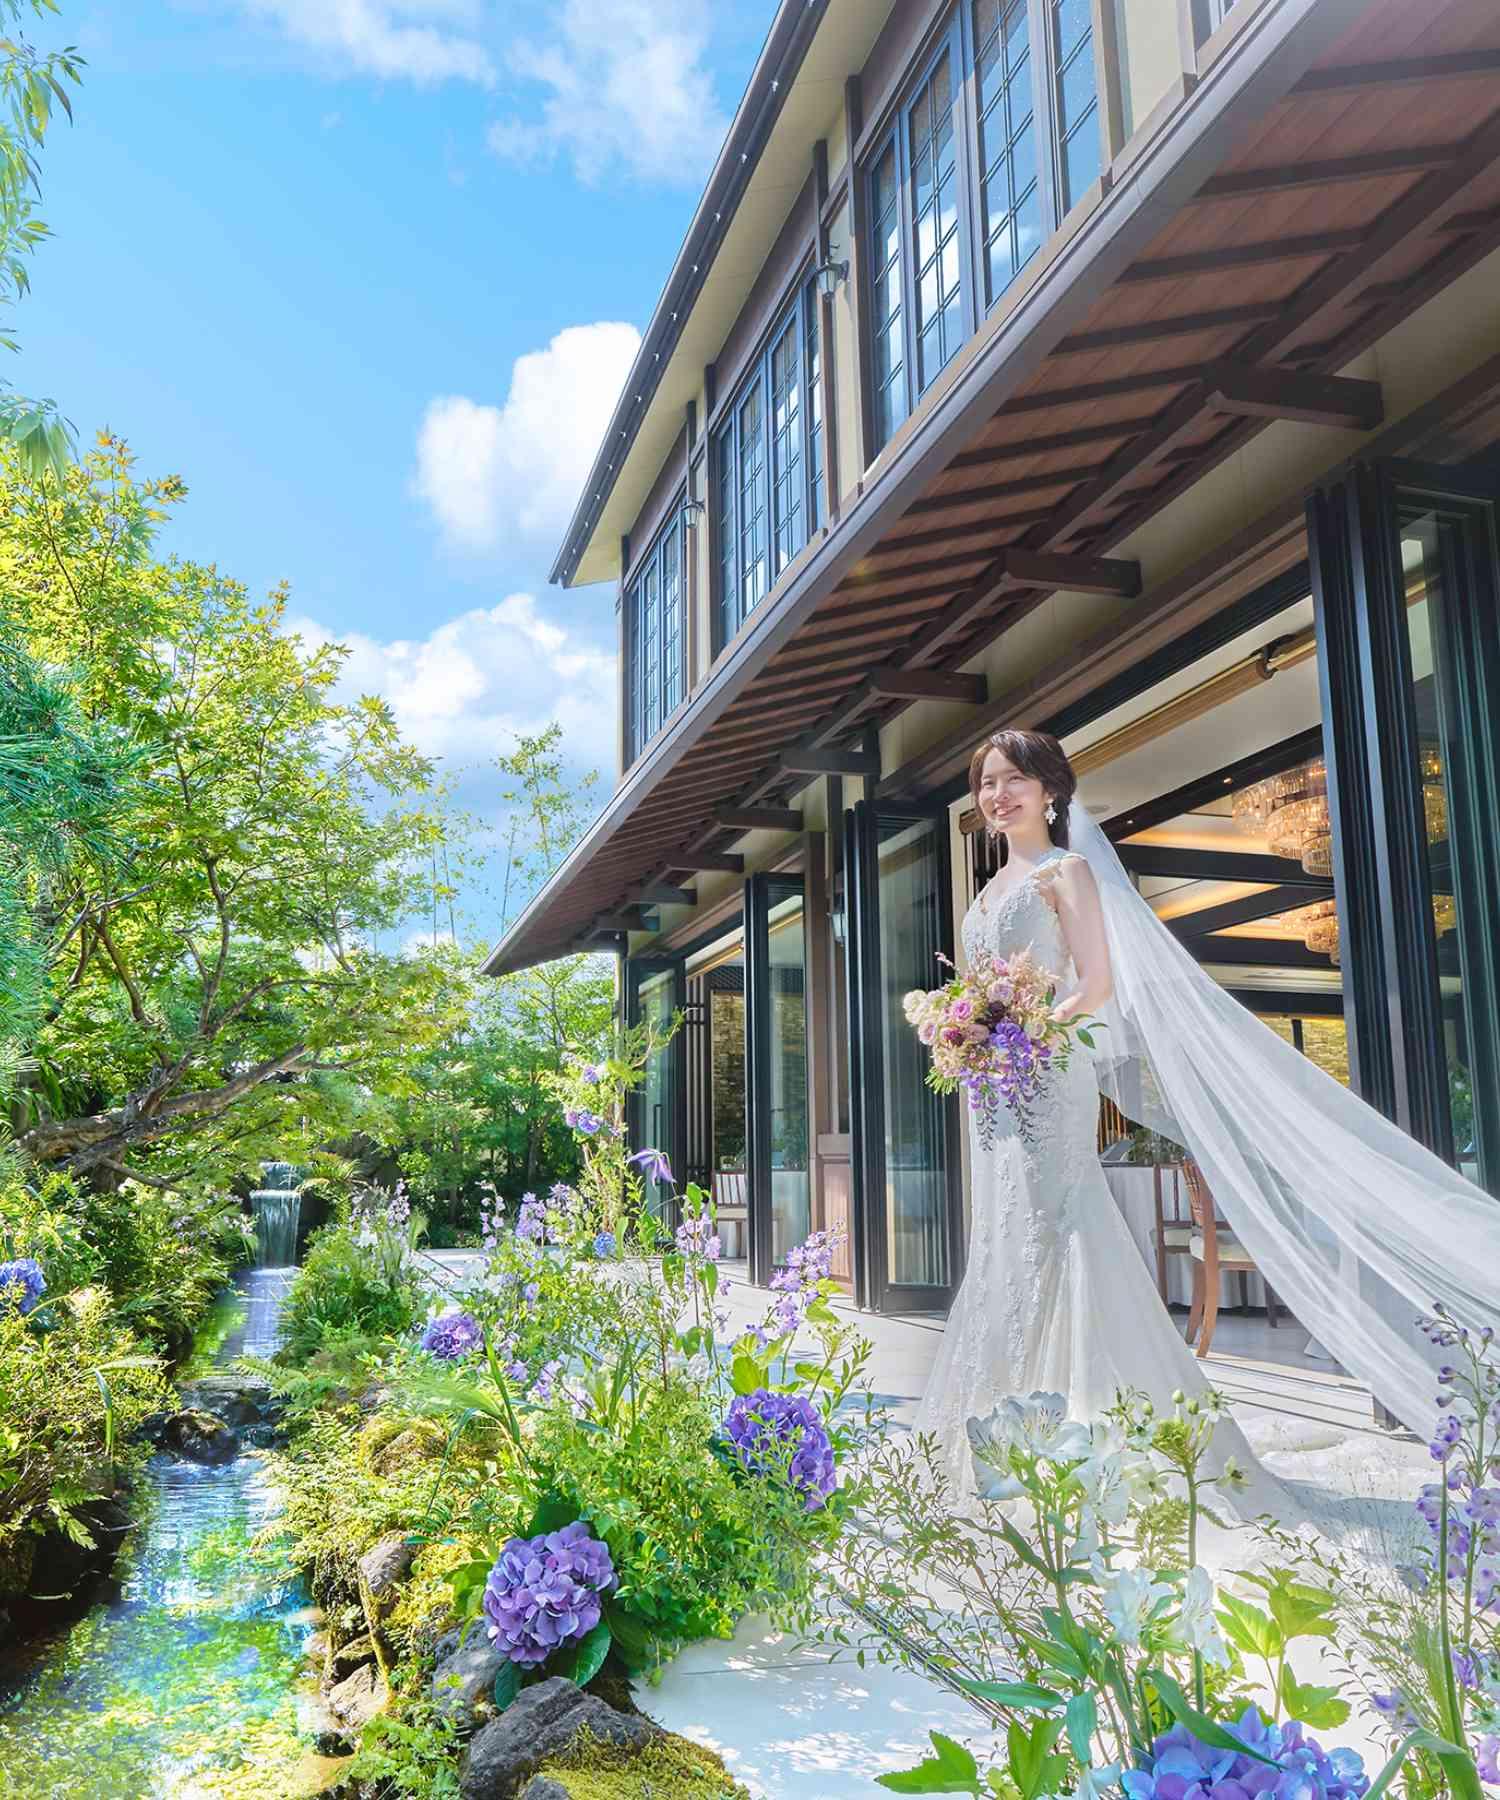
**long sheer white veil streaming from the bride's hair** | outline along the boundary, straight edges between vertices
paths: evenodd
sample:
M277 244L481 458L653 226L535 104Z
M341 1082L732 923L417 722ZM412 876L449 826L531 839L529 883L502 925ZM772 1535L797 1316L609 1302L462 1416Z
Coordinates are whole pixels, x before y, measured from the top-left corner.
M1500 1204L1206 976L1077 801L1068 828L1098 886L1115 974L1100 1089L1188 1148L1300 1323L1423 1431L1433 1377L1417 1316L1442 1301L1462 1323L1500 1325Z

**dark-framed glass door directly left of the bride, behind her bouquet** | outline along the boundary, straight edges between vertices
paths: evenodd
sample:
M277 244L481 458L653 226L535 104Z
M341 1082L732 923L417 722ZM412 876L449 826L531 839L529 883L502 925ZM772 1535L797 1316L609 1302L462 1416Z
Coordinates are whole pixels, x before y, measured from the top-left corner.
M927 1087L902 997L953 954L947 815L846 814L855 1282L881 1312L949 1303L962 1271L956 1105Z

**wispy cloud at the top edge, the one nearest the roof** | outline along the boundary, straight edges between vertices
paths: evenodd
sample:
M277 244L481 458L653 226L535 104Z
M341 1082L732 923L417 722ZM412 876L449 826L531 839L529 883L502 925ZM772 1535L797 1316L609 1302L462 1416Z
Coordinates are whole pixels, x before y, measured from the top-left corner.
M565 157L589 184L625 169L695 185L727 130L704 61L709 14L708 0L564 0L553 36L506 58L537 104L495 122L490 148Z

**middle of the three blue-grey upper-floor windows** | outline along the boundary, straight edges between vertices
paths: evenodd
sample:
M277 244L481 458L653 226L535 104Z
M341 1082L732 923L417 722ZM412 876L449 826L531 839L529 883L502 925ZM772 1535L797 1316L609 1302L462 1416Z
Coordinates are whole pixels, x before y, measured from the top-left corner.
M713 434L715 652L821 522L821 356L818 295L807 284Z

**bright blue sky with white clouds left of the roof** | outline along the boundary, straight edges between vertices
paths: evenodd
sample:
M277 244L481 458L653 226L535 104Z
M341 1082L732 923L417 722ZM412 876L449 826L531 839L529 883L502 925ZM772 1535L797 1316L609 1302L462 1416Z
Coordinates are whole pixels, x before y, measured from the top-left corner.
M38 34L88 70L5 373L180 473L167 547L288 581L475 810L551 716L612 776L614 596L546 572L773 13L63 0Z

